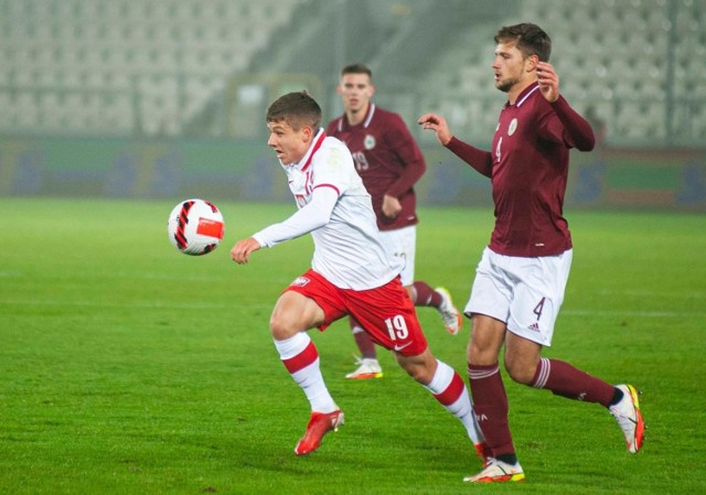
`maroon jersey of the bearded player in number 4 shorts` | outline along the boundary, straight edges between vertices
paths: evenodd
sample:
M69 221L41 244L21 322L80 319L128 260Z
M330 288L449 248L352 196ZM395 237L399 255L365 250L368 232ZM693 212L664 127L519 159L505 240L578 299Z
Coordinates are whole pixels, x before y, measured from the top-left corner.
M558 255L571 247L564 218L569 149L590 151L590 125L564 99L549 104L538 84L503 107L493 151L452 138L448 148L491 177L495 228L490 248L507 256Z

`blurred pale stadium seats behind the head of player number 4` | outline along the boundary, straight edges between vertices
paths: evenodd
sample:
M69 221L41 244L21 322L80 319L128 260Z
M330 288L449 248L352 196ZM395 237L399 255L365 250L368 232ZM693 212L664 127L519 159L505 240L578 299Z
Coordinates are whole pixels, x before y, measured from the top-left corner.
M611 143L706 140L704 0L523 0L518 8L501 23L536 22L549 33L563 93L578 110L596 110ZM469 32L443 57L446 89L434 80L421 96L473 139L490 139L504 103L489 84L495 29Z

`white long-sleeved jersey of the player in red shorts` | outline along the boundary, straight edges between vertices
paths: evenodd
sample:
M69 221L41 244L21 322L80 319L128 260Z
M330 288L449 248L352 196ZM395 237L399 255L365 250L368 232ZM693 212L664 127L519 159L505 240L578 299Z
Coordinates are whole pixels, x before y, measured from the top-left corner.
M381 244L371 196L345 144L320 129L303 159L282 168L299 211L255 234L261 246L311 233L311 267L341 289L374 289L399 273L399 260Z

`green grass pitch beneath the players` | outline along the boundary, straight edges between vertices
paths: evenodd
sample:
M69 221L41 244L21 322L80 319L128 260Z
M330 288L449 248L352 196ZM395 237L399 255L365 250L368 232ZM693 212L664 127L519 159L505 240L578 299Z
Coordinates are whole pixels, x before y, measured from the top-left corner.
M343 322L312 332L346 424L314 454L309 416L268 332L309 237L229 260L233 244L293 205L221 202L205 257L168 241L172 201L0 198L2 494L705 493L706 218L568 212L574 268L547 356L642 389L643 451L599 406L506 380L527 480L469 486L480 469L458 421L381 354L385 378L351 383ZM457 305L492 228L490 208L421 208L417 279ZM466 375L468 321L432 351Z

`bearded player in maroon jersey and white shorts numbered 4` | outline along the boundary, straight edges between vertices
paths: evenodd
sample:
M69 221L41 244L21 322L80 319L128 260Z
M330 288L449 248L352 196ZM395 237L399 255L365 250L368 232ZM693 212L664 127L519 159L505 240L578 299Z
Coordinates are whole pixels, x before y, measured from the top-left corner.
M507 397L499 370L523 385L607 407L628 450L642 446L644 422L638 391L612 386L559 359L542 357L552 344L571 263L571 237L564 218L569 149L590 151L590 125L559 95L548 63L549 36L537 25L502 28L492 64L495 87L507 94L492 142L483 151L452 136L435 114L419 118L439 142L491 179L495 228L475 271L464 313L471 319L468 370L473 408L492 456L467 482L522 481L507 424Z

